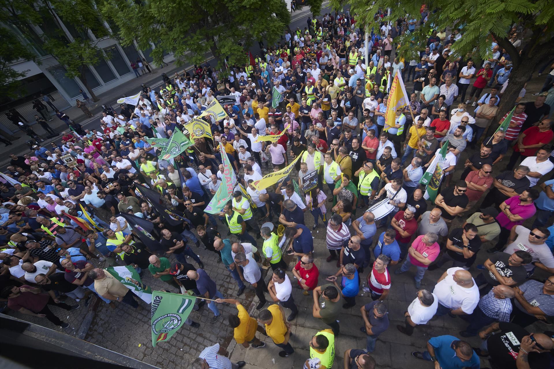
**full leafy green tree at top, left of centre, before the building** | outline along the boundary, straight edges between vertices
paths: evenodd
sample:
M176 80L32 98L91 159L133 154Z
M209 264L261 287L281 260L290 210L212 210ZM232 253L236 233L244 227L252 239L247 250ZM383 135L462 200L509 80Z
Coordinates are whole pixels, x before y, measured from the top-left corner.
M319 13L321 0L312 0ZM201 64L209 54L217 68L246 65L248 49L254 40L274 44L290 23L283 0L185 1L127 0L104 1L102 14L117 24L121 44L137 41L139 48L154 44L152 59L161 64L164 51L173 53L177 63Z

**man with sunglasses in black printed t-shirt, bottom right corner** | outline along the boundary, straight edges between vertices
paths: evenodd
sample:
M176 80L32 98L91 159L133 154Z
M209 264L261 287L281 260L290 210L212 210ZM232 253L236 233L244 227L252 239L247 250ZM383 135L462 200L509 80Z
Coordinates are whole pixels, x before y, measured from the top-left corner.
M500 322L480 331L479 337L485 341L475 352L481 357L489 356L493 369L550 367L554 341L547 334L529 333L515 323Z

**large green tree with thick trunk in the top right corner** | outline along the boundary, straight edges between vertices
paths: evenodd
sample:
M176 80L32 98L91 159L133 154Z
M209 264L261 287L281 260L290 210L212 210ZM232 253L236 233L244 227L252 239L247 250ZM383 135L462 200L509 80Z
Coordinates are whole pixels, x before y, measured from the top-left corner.
M449 0L409 1L376 0L373 5L362 0L332 0L334 8L350 4L351 13L357 14L362 27L378 30L380 18L375 18L378 9L391 9L382 20L396 22L399 18L420 19L420 9L427 4L429 17L422 27L412 34L399 35L394 41L401 44L397 53L406 60L412 59L415 51L422 51L434 30L459 28L462 37L452 45L449 59L466 58L469 54L476 61L489 59L492 44L496 42L512 59L509 84L502 95L496 121L514 106L519 92L529 81L538 65L554 58L554 6L542 0L452 2ZM436 12L434 10L437 9ZM510 42L512 27L521 39L521 50ZM480 65L476 65L479 70Z

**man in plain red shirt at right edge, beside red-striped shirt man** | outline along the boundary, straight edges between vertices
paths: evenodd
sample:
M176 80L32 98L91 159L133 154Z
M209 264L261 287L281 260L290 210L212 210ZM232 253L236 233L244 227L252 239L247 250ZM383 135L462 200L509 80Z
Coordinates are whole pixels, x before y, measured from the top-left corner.
M538 149L550 142L552 137L554 137L554 132L552 132L551 119L542 119L542 121L538 123L538 126L525 129L525 131L517 137L514 153L512 153L510 162L506 165L504 170L514 169L517 160L521 156L525 158L536 156Z

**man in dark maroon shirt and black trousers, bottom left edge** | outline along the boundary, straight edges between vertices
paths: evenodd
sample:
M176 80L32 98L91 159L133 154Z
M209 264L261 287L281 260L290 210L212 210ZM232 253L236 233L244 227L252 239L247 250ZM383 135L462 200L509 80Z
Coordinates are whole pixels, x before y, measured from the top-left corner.
M8 308L25 315L46 318L50 323L59 325L61 328L68 328L69 323L65 323L55 316L48 308L48 305L58 306L58 308L68 311L79 309L79 305L69 306L68 304L60 303L58 299L53 299L48 294L40 293L40 288L30 287L27 284L21 287L7 286L2 289L0 296L8 299Z

